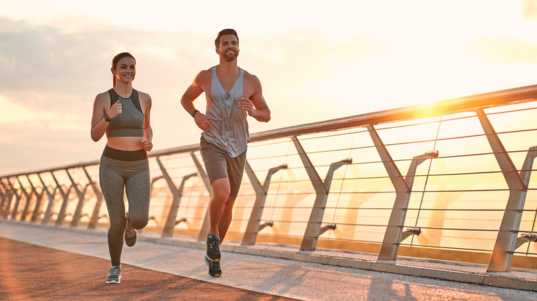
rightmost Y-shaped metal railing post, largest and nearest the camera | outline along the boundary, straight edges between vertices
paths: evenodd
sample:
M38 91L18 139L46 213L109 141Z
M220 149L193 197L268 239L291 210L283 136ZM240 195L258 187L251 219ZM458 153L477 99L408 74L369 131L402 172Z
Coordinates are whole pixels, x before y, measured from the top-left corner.
M529 175L531 175L531 172L528 172L528 170L531 170L531 166L533 166L536 149L534 146L527 153L523 167L525 170L523 179L514 166L496 131L494 131L485 112L479 109L476 113L492 148L494 157L496 157L496 161L498 161L503 177L509 187L509 199L507 199L507 205L503 213L503 219L498 230L498 236L494 243L494 249L492 250L487 271L510 271L516 238L518 237L518 229L520 228L520 219L522 219L526 200L527 184L529 183Z

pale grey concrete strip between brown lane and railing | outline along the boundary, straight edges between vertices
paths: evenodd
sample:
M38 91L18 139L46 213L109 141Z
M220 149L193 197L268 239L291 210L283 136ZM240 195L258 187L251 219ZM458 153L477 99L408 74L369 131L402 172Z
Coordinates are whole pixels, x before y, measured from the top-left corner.
M109 262L105 230L0 220L0 237ZM143 233L138 236L134 247L124 247L122 263L299 300L537 300L535 271L487 274L486 267L478 265L446 265L414 260L377 263L367 254L322 250L297 252L286 247L244 247L224 243L223 276L211 278L207 275L203 256L204 243L191 238L162 239ZM103 282L107 268L99 271L103 274ZM123 273L124 282L129 277L136 278L129 273L132 272L125 270ZM143 280L139 281L139 285L145 285ZM84 285L77 283L78 287ZM216 300L240 299L220 297ZM198 298L202 296L191 296L192 300Z

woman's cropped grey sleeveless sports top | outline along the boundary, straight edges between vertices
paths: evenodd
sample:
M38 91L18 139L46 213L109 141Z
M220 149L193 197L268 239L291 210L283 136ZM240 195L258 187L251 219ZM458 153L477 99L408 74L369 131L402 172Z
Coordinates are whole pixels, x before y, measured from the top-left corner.
M106 129L106 137L144 137L145 116L140 107L138 91L132 89L131 97L121 98L114 89L109 89L110 107L119 100L122 112L112 118Z

